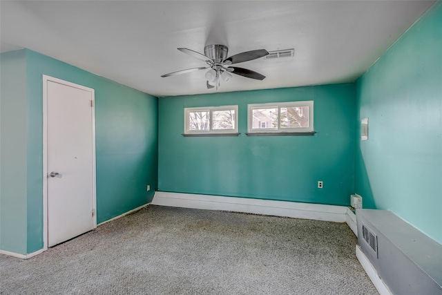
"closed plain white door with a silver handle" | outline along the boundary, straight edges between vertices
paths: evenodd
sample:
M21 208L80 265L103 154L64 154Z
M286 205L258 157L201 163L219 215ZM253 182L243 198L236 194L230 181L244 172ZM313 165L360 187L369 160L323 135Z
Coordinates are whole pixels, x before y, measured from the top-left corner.
M95 227L94 92L61 83L46 81L49 247Z

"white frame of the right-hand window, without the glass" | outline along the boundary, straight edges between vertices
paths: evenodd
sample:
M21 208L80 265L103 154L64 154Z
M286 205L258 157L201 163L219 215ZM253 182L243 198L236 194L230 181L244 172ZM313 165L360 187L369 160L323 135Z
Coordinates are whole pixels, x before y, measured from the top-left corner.
M300 128L280 128L281 108L288 106L309 106L309 126ZM276 129L253 129L252 110L256 108L278 108L278 128ZM313 100L300 102L271 102L268 104L247 104L247 133L313 133L314 117L313 117Z

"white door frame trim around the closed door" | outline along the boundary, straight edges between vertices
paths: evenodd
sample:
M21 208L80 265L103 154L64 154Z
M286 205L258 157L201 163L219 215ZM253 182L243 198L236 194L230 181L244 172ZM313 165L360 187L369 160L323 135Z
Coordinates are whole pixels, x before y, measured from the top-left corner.
M67 82L55 77L43 75L43 245L48 249L48 82L55 82L91 93L92 97L92 175L93 175L93 228L97 227L97 184L95 170L95 90Z

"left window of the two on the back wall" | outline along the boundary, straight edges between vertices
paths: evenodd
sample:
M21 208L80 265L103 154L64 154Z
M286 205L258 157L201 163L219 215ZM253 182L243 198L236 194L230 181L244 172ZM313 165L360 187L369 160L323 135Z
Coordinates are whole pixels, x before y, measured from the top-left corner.
M238 106L184 108L184 135L238 133Z

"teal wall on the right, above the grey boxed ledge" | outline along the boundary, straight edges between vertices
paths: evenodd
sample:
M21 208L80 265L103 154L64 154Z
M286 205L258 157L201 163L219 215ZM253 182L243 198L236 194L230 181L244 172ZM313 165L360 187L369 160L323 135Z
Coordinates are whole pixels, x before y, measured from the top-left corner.
M356 192L442 243L442 3L356 83ZM359 125L358 125L359 126ZM360 138L359 129L356 138Z

